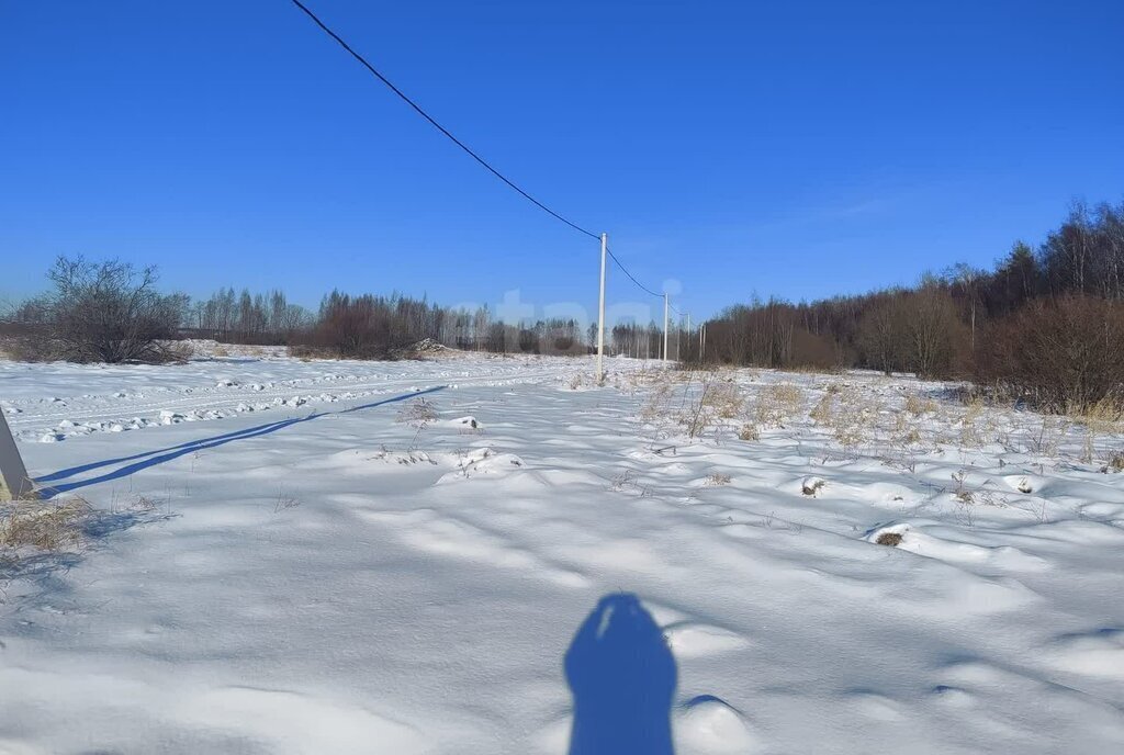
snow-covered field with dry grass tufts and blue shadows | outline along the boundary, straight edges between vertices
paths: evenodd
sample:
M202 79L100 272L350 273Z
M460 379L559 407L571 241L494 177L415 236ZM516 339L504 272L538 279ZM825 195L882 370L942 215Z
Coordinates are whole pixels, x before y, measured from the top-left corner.
M0 752L564 753L568 672L680 755L1124 752L1120 435L591 367L0 362L97 510L2 566Z

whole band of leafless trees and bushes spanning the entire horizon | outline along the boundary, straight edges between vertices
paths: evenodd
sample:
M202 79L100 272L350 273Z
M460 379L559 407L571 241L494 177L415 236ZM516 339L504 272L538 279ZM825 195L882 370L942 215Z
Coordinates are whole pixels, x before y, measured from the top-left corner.
M192 302L157 289L154 267L60 257L52 289L0 322L17 356L78 362L176 358L183 337L288 345L301 354L388 358L425 342L492 353L588 354L596 324L519 324L487 306L447 308L398 293L325 295L310 311L282 291L224 288ZM654 324L617 324L610 353L659 358ZM669 335L672 358L778 369L868 367L970 377L1057 410L1124 411L1124 203L1076 204L1036 248L1018 242L990 270L958 264L913 286L724 309ZM15 344L15 345L12 345Z

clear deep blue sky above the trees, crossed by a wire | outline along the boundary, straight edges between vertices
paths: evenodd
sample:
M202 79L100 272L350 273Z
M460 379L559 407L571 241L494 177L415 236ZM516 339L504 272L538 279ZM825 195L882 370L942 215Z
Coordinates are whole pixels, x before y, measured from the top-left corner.
M308 4L696 317L987 265L1124 199L1111 0ZM596 303L596 242L284 0L0 2L0 299L84 253L193 295Z

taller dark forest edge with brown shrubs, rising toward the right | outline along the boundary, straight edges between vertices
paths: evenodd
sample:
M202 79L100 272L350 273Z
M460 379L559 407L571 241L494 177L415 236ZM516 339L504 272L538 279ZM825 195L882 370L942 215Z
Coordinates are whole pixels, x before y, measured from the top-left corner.
M970 377L1057 411L1124 406L1124 203L1078 203L991 270L810 303L728 307L690 362Z

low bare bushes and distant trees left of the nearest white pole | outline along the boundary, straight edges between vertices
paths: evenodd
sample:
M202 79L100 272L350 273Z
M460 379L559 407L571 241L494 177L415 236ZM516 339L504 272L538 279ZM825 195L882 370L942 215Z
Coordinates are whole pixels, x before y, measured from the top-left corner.
M52 288L0 319L6 348L17 357L74 362L163 362L180 358L183 338L287 345L300 355L393 358L419 343L478 352L588 354L596 327L547 318L509 324L487 306L447 308L399 293L334 290L317 311L284 292L223 288L192 302L157 289L155 267L116 260L61 256L48 271Z

